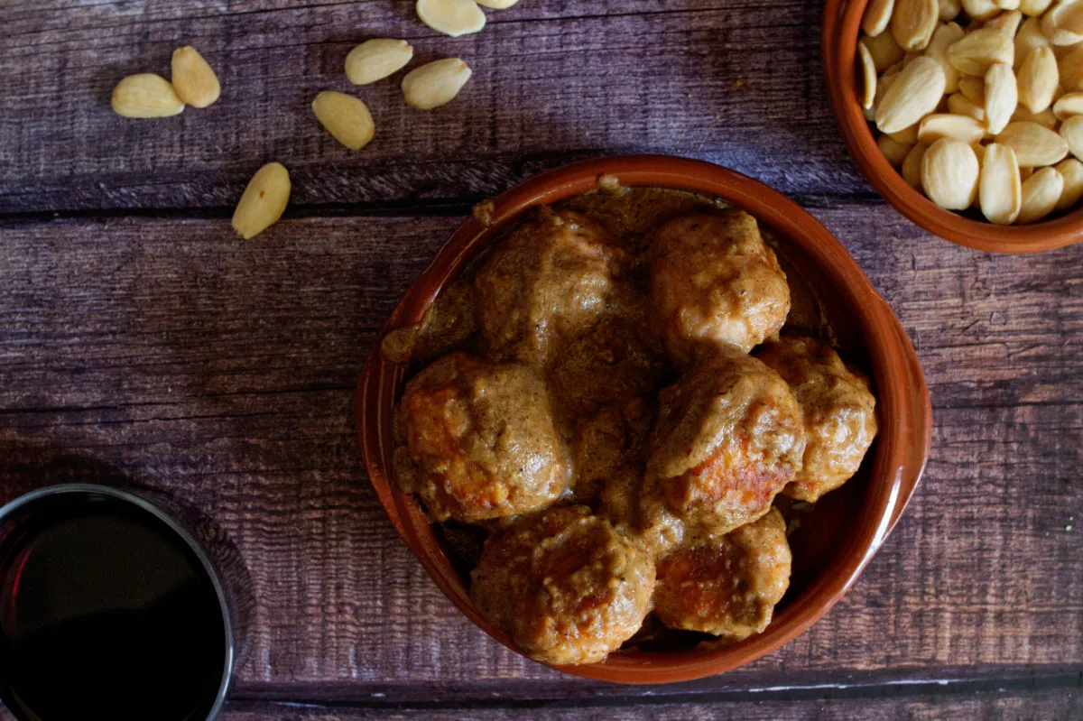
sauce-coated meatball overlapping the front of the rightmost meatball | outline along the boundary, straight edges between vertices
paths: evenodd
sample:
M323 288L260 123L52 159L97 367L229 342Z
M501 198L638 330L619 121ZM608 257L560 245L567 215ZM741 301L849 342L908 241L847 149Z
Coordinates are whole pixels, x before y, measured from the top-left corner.
M660 394L647 464L669 510L725 534L761 516L801 468L800 407L777 372L720 345Z

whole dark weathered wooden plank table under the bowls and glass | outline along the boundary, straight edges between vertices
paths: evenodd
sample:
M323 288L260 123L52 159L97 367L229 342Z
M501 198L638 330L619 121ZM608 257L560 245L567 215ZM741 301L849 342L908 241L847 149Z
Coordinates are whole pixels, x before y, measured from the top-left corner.
M0 2L0 491L74 479L166 489L222 524L257 597L225 719L1083 716L1083 246L957 248L903 220L847 155L819 2L523 0L439 36L405 0ZM354 89L374 36L474 76L407 108ZM108 107L173 48L221 102ZM355 92L376 141L309 103ZM917 348L934 450L852 592L785 648L695 683L587 682L485 637L386 521L352 436L377 329L470 206L569 160L654 152L758 178L820 218ZM279 160L286 219L229 218ZM119 481L118 481L119 479Z

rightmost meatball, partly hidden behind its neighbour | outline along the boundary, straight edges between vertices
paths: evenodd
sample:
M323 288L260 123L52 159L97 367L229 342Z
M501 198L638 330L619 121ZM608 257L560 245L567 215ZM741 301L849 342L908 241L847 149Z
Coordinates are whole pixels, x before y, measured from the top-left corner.
M785 337L757 357L790 383L808 434L803 468L782 493L815 501L858 472L876 437L876 398L869 379L811 338Z

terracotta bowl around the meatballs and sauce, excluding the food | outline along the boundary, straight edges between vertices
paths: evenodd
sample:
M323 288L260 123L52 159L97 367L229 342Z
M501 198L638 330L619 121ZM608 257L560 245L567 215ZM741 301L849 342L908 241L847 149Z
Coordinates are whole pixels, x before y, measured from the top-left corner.
M653 185L725 198L756 215L779 242L783 263L796 270L824 304L847 359L870 372L876 386L880 433L858 476L817 503L791 537L794 575L770 627L742 643L653 652L622 651L589 666L559 670L605 681L667 683L726 671L795 638L823 616L869 563L914 493L929 451L931 409L914 350L887 303L815 219L766 185L730 170L681 158L641 156L580 162L539 175L494 199L492 225L466 221L410 286L383 332L421 320L436 293L467 263L532 206L591 191L602 173L624 185ZM369 480L391 523L440 589L474 624L505 645L509 639L482 618L441 537L418 502L393 482L392 415L406 368L386 360L379 344L361 373L357 443ZM518 650L517 650L518 651Z

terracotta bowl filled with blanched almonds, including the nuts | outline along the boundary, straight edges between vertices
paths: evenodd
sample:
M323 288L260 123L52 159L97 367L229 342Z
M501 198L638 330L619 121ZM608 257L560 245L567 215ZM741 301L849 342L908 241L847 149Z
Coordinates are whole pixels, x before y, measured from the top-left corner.
M958 245L1083 240L1083 0L827 0L824 69L862 172Z

